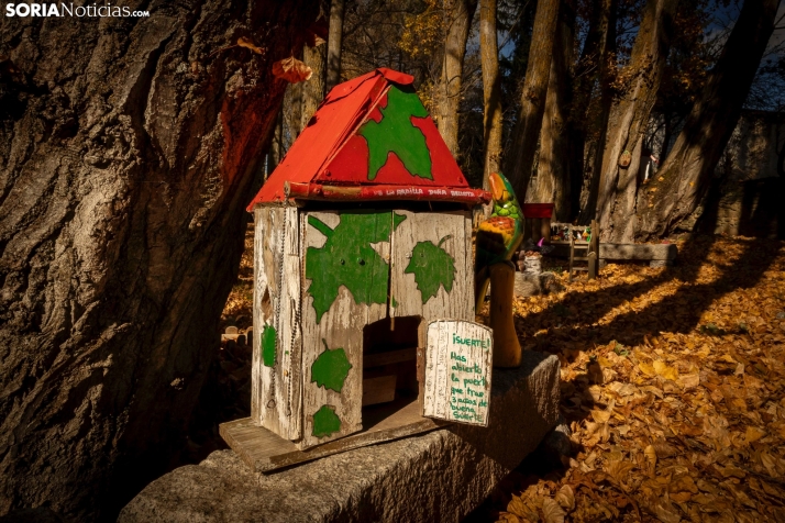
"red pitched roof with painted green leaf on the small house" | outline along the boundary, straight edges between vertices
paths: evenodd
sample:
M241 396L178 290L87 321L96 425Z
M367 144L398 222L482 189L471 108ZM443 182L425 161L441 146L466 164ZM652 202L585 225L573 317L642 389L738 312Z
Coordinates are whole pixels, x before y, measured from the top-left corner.
M413 78L379 68L335 86L248 211L295 199L449 200L478 203ZM385 156L386 155L386 156Z

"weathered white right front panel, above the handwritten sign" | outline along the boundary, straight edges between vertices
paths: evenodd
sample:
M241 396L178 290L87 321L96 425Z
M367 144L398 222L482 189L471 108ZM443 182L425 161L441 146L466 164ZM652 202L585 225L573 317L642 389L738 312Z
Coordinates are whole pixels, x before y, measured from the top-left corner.
M390 316L422 316L424 322L450 318L474 320L474 285L472 260L472 215L468 211L447 213L395 211L406 219L393 233L393 267L390 272ZM429 242L432 246L418 244ZM412 260L422 251L443 249L452 259L454 279L447 291L443 285L423 292L416 277L418 260ZM423 298L425 299L423 303Z

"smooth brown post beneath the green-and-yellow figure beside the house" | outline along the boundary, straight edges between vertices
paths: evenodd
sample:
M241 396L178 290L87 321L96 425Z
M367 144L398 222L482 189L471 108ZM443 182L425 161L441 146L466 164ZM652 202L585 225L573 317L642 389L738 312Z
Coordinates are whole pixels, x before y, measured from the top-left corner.
M512 321L515 268L507 263L490 266L490 329L494 330L494 367L520 367L521 345Z

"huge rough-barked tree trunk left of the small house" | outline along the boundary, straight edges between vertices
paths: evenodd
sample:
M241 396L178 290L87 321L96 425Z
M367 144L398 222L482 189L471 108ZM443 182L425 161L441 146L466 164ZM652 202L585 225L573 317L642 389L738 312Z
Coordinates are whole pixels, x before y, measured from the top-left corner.
M113 520L176 463L284 93L272 65L317 12L145 5L0 24L0 514Z

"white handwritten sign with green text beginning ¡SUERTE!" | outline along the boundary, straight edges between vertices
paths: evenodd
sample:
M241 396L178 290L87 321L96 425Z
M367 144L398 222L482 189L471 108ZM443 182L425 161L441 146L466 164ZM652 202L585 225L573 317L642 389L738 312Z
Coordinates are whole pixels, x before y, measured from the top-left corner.
M488 426L493 331L479 323L428 324L423 415Z

